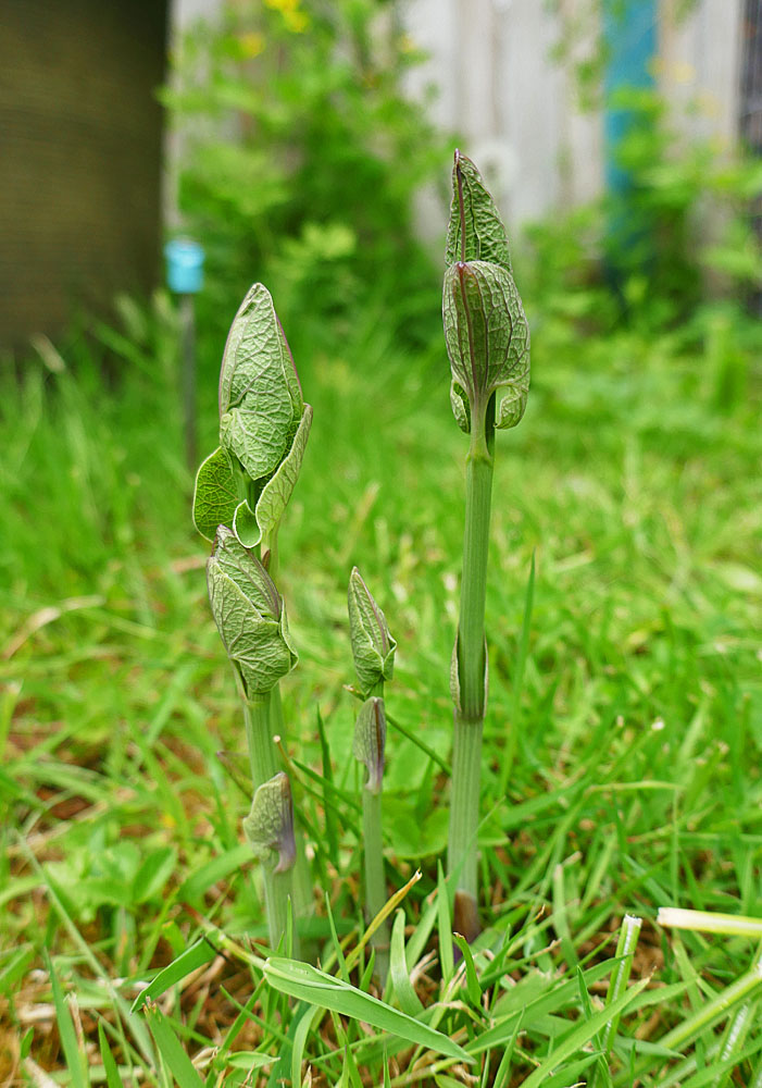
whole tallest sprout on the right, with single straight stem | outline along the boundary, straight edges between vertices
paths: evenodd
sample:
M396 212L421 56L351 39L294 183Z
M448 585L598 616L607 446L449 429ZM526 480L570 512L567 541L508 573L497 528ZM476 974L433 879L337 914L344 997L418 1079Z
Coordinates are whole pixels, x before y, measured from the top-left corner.
M454 737L448 871L457 888L454 928L473 940L479 931L476 834L487 704L484 619L495 431L515 426L524 415L529 327L500 213L476 166L460 151L452 171L446 261L442 317L452 371L450 401L458 425L470 436L460 616L450 671Z

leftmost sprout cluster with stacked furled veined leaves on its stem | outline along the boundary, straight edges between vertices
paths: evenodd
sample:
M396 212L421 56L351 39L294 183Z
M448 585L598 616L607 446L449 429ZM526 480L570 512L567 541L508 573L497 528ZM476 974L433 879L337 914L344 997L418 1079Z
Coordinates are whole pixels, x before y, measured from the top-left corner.
M207 564L209 598L243 704L254 790L245 826L258 855L265 856L265 903L274 948L285 932L295 857L302 869L305 860L295 842L290 786L279 776L273 741L284 731L278 681L297 664L273 578L278 527L299 475L311 422L312 408L302 398L273 300L262 284L254 284L225 345L220 445L198 471L193 522L202 536L214 541ZM275 798L280 799L277 805ZM267 862L274 843L279 855L275 867Z

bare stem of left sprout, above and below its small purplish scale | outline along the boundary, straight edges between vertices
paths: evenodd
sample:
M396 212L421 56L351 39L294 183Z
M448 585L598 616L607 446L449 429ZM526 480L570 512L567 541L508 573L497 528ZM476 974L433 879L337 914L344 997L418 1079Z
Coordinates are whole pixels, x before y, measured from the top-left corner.
M253 695L243 703L246 739L249 745L249 764L254 792L278 771L276 749L271 728L272 692ZM286 932L292 899L292 870L274 873L271 863L262 864L264 903L267 915L270 947L277 949ZM293 955L299 955L297 935L293 934Z

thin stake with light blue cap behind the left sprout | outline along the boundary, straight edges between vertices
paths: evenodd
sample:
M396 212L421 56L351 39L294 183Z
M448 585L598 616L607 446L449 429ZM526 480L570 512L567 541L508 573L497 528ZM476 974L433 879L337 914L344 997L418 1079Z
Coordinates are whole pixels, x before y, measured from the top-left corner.
M193 295L203 285L202 247L190 238L174 238L164 246L166 283L179 296L180 373L183 386L183 422L188 467L196 471L196 313Z

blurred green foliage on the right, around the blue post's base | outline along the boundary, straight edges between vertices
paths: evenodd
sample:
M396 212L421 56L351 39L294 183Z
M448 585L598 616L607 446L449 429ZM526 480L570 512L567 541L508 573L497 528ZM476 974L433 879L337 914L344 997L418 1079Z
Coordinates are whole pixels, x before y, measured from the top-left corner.
M694 344L720 310L753 338L746 304L762 286L762 250L749 208L762 162L680 139L654 90L619 92L615 104L632 116L617 154L628 187L527 231L532 308L588 336L679 331Z

